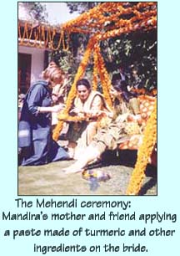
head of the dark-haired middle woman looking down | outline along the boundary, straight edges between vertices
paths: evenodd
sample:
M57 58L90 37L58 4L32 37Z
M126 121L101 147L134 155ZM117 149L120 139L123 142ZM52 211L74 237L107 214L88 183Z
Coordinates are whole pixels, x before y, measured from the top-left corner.
M80 100L85 101L91 92L91 85L87 79L79 79L76 84L77 95Z

